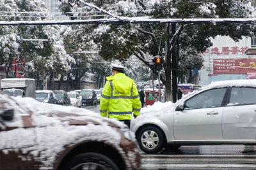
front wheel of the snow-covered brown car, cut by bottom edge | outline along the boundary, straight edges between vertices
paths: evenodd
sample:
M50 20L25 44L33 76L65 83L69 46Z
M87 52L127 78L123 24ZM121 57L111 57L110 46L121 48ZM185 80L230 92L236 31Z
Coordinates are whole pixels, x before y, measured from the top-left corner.
M67 169L119 169L113 160L100 153L82 153L76 155Z

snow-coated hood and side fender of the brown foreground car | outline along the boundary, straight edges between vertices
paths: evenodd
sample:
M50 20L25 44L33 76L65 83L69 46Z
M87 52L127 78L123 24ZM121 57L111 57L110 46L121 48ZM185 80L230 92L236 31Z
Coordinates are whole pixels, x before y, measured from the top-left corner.
M83 141L106 141L120 149L122 136L114 127L127 127L123 122L100 117L99 113L84 108L38 103L30 97L0 94L0 108L15 113L11 122L0 122L0 150L6 154L14 150L24 155L29 153L42 163L40 169L54 169L59 153Z

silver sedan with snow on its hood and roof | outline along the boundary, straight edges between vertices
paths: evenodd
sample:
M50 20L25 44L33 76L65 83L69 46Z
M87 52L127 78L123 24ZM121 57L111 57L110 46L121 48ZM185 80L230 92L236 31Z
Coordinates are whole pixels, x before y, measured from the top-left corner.
M255 96L256 80L216 81L165 108L141 109L131 129L146 153L181 145L255 145Z

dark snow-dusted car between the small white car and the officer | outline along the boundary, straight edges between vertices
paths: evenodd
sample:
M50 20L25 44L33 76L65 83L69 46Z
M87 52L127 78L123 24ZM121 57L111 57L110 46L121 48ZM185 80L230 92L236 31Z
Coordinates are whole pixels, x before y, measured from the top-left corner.
M95 91L92 89L83 89L80 92L80 95L83 97L83 104L97 104L98 99Z

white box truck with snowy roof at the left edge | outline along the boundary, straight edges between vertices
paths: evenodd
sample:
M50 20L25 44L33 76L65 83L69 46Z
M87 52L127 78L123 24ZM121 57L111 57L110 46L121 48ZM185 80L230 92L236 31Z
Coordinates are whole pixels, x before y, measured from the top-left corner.
M36 84L32 78L4 78L1 80L1 89L8 96L36 98Z

